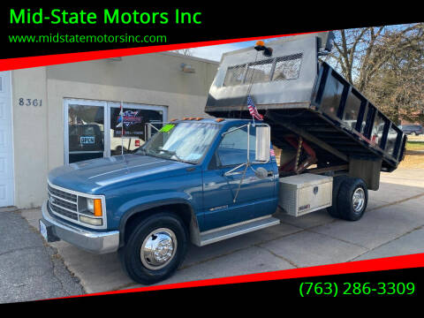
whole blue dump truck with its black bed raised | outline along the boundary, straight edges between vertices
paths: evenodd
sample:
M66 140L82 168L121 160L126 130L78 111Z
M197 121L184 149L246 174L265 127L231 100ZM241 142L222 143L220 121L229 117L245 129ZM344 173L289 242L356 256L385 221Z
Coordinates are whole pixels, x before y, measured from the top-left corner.
M49 172L43 237L117 252L128 276L154 284L178 269L189 244L276 225L276 211L327 208L359 220L406 138L320 60L330 47L330 34L312 34L224 54L211 117L173 119L132 154Z

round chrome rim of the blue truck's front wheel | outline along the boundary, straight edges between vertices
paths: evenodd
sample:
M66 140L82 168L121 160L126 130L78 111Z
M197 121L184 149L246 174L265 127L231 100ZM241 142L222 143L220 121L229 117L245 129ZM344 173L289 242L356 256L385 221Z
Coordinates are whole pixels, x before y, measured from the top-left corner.
M177 252L177 237L170 229L161 228L150 232L140 248L140 259L148 269L163 269Z

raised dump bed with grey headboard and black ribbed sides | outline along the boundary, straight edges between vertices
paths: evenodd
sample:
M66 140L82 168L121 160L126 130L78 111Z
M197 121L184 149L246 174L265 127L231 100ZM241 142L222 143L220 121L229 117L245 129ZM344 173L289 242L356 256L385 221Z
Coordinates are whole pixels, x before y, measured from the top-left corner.
M269 43L271 57L253 48L223 56L205 111L215 117L244 117L247 95L271 126L271 140L301 136L314 148L318 166L381 162L392 171L405 155L406 136L372 102L318 60L322 38Z

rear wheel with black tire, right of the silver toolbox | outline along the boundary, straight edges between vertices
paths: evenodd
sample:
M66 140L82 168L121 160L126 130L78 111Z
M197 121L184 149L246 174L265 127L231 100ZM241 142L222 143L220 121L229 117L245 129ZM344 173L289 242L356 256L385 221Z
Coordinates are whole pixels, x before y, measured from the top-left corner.
M337 196L337 208L342 219L358 221L365 212L368 202L368 190L360 178L347 178L340 186Z

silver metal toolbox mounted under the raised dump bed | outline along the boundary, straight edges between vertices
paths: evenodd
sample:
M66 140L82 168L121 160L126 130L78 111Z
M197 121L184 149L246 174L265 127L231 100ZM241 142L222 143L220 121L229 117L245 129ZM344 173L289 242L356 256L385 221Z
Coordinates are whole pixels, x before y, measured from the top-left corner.
M332 204L333 178L305 173L280 178L278 206L289 216L303 216Z

